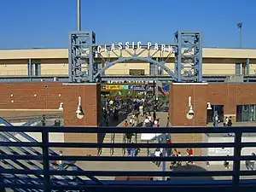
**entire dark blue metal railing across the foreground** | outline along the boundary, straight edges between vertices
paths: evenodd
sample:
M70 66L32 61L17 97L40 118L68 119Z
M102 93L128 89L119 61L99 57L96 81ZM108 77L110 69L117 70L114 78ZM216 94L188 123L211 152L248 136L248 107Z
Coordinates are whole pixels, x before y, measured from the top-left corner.
M241 148L256 147L256 143L242 143L241 137L243 133L255 133L256 127L219 127L206 128L206 127L160 127L158 129L153 128L117 128L117 127L31 127L31 126L1 126L0 132L40 132L42 134L42 143L30 143L30 142L0 142L1 147L22 147L22 148L42 148L43 154L27 155L27 154L0 154L0 160L40 160L43 162L43 170L21 170L21 169L4 169L0 168L2 173L1 179L3 181L6 178L5 174L11 175L42 175L42 178L35 178L26 181L23 179L23 183L19 181L22 178L12 177L9 179L11 183L4 183L0 181L0 188L15 188L15 189L41 189L44 191L51 191L51 189L62 190L83 190L88 189L91 191L119 191L123 189L180 189L179 191L185 191L187 189L196 191L205 191L206 188L222 189L223 191L237 191L237 189L243 188L244 191L253 191L256 187L255 180L248 181L241 180L241 176L254 176L255 171L241 171L242 160L256 160L256 156L241 155ZM234 133L233 143L50 143L49 133L52 132L65 132L65 133L166 133L171 134L187 134L187 133ZM49 148L234 148L234 155L230 156L75 156L75 155L55 155L50 154ZM49 162L52 160L63 161L233 161L233 169L230 171L191 171L191 172L172 172L172 171L68 171L68 170L51 170L49 168ZM79 182L73 182L68 180L65 183L58 183L58 178L52 179L52 176L73 176L90 177L91 181L79 179ZM130 182L130 181L102 181L97 179L97 176L102 177L218 177L218 176L230 176L231 181L200 181L191 183L183 180L179 182L175 181L142 181L142 182ZM32 183L33 182L33 183ZM218 187L216 187L218 186ZM191 187L191 188L189 188ZM202 190L203 189L203 190ZM239 191L240 191L239 190ZM126 191L126 190L125 190ZM161 190L162 191L162 190Z

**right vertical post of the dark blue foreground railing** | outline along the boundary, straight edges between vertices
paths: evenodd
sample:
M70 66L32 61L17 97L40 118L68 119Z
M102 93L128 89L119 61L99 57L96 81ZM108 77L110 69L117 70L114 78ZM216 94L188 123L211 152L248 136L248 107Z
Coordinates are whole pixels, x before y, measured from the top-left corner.
M240 166L241 166L241 136L242 133L241 131L236 131L235 132L235 148L234 148L234 157L235 160L233 162L233 187L238 187L239 186L239 179L240 179Z

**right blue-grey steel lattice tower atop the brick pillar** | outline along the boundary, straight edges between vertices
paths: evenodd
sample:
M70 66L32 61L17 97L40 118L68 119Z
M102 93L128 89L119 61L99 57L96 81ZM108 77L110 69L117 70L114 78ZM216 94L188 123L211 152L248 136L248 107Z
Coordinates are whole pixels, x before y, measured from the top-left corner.
M202 49L200 32L175 32L175 74L177 82L202 81Z

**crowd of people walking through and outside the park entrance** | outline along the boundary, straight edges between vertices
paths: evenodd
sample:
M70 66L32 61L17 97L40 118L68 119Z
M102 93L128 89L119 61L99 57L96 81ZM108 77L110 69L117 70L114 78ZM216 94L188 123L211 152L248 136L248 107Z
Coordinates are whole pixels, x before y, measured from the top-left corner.
M148 107L149 106L149 107ZM105 125L108 126L110 121L118 121L120 113L131 113L131 117L128 120L125 120L125 127L159 127L160 126L160 118L157 118L156 109L157 106L152 103L152 101L148 100L148 98L113 98L108 99L103 107L103 121ZM142 120L143 119L143 120ZM218 114L215 114L213 117L213 126L218 127L220 120L218 119ZM232 126L231 117L226 117L224 120L224 126ZM136 137L134 141L137 143L137 135L133 133L125 134L125 143L132 143L133 137ZM167 139L167 143L171 143L170 139ZM140 148L126 148L126 152L128 155L134 157L140 153ZM166 148L166 156L193 156L194 150L192 148L188 148L184 153L181 151L177 151L177 148ZM156 148L152 156L160 157L163 156L164 150L163 148ZM252 155L255 155L254 153ZM254 170L254 162L255 160L247 160L246 167L247 170ZM160 161L152 162L155 166L160 166ZM206 166L210 166L210 162L206 161ZM195 165L192 161L182 162L182 161L172 161L170 169L175 166L189 166ZM230 162L228 160L224 160L224 168L230 169Z

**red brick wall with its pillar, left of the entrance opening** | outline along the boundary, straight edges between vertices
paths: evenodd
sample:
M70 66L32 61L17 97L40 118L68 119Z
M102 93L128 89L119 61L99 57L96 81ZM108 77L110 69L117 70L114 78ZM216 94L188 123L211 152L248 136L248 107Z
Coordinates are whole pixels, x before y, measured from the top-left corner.
M100 84L62 84L60 82L0 84L1 109L58 109L64 102L66 126L97 126L101 121ZM76 118L78 97L82 98L84 118ZM17 112L9 115L17 115ZM22 113L19 113L22 115ZM96 134L65 133L65 142L97 142ZM96 154L96 148L66 148L67 154Z

